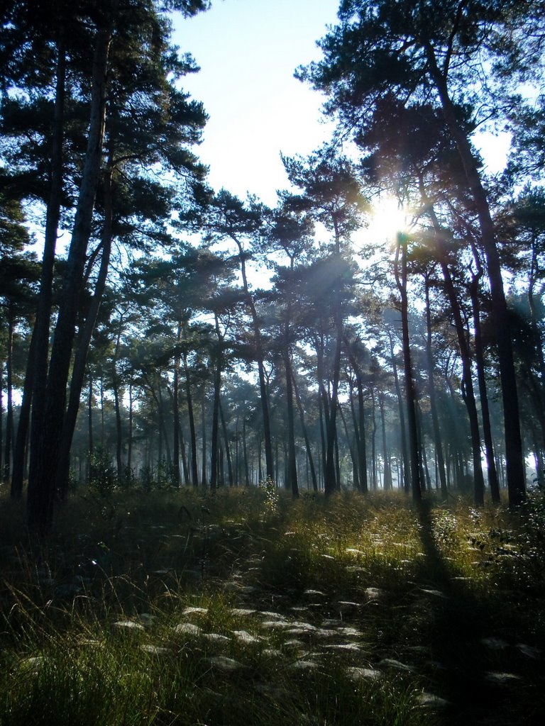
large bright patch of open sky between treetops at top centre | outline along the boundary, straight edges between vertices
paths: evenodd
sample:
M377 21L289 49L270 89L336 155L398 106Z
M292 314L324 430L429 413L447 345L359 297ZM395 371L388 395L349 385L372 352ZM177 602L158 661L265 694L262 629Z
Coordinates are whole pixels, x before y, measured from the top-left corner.
M214 189L226 187L269 205L288 186L280 161L306 155L331 136L323 97L294 78L320 58L315 41L335 25L338 0L212 0L212 8L175 22L173 41L201 70L183 88L202 101L209 122L197 152Z

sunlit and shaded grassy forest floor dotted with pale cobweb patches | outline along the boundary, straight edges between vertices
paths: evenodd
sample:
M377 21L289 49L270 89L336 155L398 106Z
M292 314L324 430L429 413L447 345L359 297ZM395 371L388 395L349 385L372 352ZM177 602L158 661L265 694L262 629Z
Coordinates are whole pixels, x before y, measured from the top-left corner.
M1 726L545 722L545 500L0 499Z

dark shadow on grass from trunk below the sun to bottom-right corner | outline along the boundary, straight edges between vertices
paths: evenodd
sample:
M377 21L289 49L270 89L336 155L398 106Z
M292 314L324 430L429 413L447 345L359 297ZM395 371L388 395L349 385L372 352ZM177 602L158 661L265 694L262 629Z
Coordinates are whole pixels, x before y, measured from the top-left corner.
M416 573L416 601L421 608L422 664L430 690L449 705L449 725L514 726L543 724L544 665L520 648L525 641L513 593L486 592L473 579L453 576L434 535L432 502L418 510L424 557Z

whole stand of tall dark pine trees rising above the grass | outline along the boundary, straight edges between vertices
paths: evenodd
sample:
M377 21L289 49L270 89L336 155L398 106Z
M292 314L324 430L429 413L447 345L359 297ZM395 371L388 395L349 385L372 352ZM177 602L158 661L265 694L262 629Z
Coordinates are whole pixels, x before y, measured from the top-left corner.
M542 4L343 0L297 72L338 131L275 208L193 154L169 13L206 6L1 11L0 469L31 531L97 467L519 505L545 484ZM384 199L405 224L370 239Z

